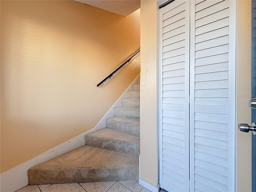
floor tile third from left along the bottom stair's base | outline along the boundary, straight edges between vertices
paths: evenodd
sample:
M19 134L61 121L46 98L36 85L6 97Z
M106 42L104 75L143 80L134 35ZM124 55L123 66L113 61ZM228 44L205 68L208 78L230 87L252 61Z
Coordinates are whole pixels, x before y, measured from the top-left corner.
M87 192L106 192L116 181L84 183L83 188Z

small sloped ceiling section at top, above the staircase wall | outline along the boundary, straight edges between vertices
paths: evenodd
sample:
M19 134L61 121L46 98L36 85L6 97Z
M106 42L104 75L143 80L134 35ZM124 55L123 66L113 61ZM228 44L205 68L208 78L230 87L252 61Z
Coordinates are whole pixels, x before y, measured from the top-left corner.
M122 16L128 16L140 8L140 0L76 0Z

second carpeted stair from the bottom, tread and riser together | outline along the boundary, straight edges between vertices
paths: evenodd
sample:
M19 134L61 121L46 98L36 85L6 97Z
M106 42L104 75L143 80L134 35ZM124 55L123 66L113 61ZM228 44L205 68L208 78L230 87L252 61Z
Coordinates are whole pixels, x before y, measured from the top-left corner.
M85 135L85 144L124 153L140 154L140 137L104 128Z

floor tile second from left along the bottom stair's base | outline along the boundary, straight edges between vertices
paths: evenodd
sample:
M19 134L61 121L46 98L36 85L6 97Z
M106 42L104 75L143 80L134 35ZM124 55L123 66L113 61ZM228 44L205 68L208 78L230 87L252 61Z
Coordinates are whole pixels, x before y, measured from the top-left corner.
M52 184L42 192L73 192L78 187L80 187L78 183Z

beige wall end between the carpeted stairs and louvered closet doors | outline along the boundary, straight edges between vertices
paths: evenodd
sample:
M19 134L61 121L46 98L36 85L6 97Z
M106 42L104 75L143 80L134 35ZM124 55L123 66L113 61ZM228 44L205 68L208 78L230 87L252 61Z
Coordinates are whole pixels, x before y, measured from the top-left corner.
M157 2L140 2L140 177L158 185Z

